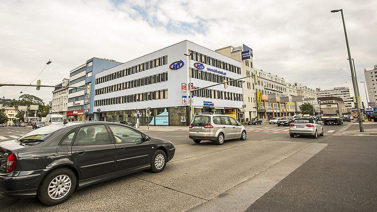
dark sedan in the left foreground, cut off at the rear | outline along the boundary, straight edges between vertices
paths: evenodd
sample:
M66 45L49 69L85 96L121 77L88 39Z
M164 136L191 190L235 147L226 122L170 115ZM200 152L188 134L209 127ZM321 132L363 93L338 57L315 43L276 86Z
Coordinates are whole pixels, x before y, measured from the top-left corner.
M172 142L123 124L52 124L0 142L0 194L37 196L52 206L94 183L144 169L161 172L174 153Z

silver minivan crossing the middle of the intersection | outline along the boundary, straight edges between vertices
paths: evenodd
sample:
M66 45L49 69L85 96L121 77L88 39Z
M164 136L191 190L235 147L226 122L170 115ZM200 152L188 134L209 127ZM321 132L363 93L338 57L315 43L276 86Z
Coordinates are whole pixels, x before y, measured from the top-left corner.
M189 138L194 143L209 140L222 145L225 140L246 140L246 130L241 123L231 116L200 113L196 114L190 123Z

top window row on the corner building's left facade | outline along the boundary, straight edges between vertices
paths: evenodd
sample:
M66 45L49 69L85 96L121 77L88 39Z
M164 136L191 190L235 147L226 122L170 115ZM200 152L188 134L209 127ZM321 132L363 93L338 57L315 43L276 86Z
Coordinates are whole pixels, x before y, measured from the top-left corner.
M155 67L158 67L158 66L162 66L162 65L166 65L166 64L167 64L167 55L164 56L164 57L159 57L159 58L156 58L154 60L147 61L145 63L141 63L141 64L136 65L136 66L132 66L130 68L120 70L118 72L114 72L114 73L105 75L103 77L99 77L99 78L95 79L95 84L100 84L100 83L103 83L103 82L107 82L107 81L110 81L110 80L113 80L113 79L117 79L117 78L124 77L124 76L127 76L127 75L135 74L135 73L138 73L138 72L141 72L141 71L145 71L145 70L155 68Z

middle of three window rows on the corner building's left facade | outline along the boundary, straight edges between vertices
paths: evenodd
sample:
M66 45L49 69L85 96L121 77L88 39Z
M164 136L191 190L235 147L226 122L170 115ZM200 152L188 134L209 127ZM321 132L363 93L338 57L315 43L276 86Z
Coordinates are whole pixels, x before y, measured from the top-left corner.
M148 84L155 84L167 81L167 72L161 74L150 75L148 77L139 78L119 84L110 85L104 88L95 89L94 95L106 94L113 91L121 91L129 88L136 88Z

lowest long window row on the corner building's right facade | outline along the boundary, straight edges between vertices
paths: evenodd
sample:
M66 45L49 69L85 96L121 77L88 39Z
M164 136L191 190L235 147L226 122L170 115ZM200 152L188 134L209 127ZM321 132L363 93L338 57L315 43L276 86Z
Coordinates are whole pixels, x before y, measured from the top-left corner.
M197 88L198 87L194 87L194 89L197 89ZM218 91L218 90L213 90L213 89L201 89L198 91L194 91L193 95L195 97L243 101L242 94L237 94L237 93L227 92L227 91Z

